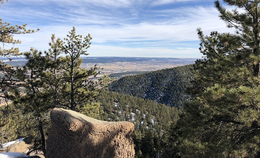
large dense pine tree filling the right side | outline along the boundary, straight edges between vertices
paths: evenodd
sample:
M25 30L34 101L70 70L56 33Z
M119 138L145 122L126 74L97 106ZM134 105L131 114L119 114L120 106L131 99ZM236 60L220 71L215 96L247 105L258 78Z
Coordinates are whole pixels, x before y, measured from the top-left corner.
M260 0L215 1L235 33L197 29L204 59L194 65L181 147L185 157L260 156ZM240 12L243 9L242 12Z

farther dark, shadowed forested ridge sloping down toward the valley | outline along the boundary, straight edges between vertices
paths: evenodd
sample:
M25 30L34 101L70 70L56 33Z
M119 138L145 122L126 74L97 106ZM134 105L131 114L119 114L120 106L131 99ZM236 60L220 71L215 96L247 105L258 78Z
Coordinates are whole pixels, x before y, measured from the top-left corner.
M184 89L192 78L191 65L185 65L125 76L112 82L108 90L180 108L188 98Z

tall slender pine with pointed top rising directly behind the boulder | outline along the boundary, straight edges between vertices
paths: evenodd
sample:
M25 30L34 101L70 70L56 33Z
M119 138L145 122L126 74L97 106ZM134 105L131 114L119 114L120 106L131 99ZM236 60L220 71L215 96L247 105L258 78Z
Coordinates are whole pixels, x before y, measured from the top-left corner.
M92 39L90 34L86 37L76 34L76 29L73 27L67 38L63 41L56 40L52 37L52 43L50 43L51 49L49 55L53 59L53 52L59 52L66 54L65 57L58 57L59 67L57 75L62 76L62 79L56 77L57 83L60 87L55 87L53 90L56 92L54 96L57 96L58 104L67 107L71 110L80 111L86 113L89 116L94 116L94 111L98 111L98 103L93 103L96 99L101 88L104 87L110 79L107 75L100 77L96 81L90 80L89 77L96 77L100 72L97 71L98 67L95 65L90 69L82 68L81 55L88 55L87 49L90 47ZM55 56L57 58L57 56ZM55 64L55 61L52 61ZM55 66L54 66L55 67ZM53 70L54 71L54 70ZM51 76L51 74L49 75ZM52 82L52 80L50 80ZM91 103L92 102L92 103ZM95 104L95 106L94 106ZM81 108L81 109L79 109ZM84 112L82 110L85 110Z

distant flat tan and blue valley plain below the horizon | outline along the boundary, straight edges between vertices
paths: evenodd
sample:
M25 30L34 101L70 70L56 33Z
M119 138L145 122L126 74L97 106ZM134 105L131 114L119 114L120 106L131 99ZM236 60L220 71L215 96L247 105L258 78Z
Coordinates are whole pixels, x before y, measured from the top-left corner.
M89 57L83 58L82 67L90 68L97 64L102 74L132 71L156 71L193 64L195 58L138 58L138 57ZM135 73L134 73L135 74Z

